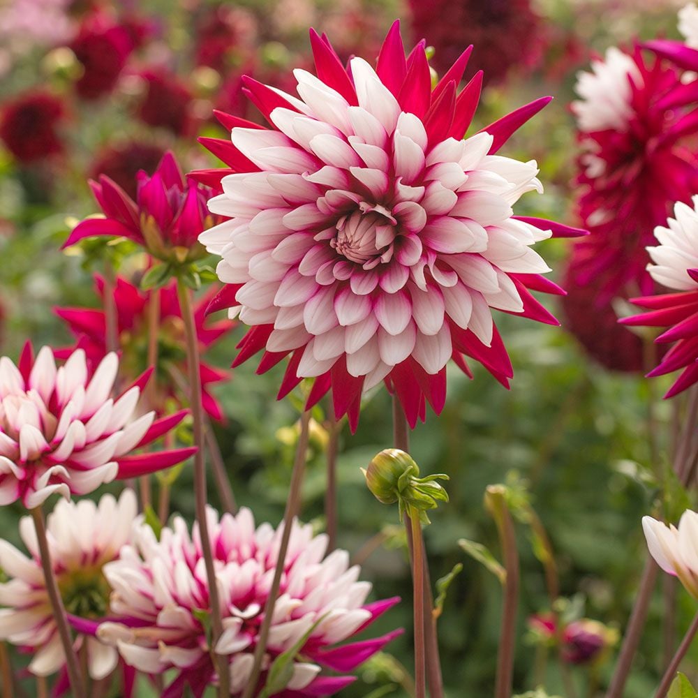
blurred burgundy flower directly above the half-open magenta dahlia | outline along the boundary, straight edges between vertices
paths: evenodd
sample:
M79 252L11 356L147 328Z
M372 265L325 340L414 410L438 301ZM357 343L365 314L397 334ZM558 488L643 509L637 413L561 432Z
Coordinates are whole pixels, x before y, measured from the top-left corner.
M174 73L154 70L142 73L147 83L145 97L138 108L138 118L149 126L168 128L185 136L191 133L191 92Z

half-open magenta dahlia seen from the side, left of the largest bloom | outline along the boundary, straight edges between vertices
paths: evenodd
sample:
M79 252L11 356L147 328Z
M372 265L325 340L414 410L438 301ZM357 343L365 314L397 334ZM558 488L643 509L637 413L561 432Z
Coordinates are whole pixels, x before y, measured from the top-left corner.
M90 186L105 218L78 223L64 247L106 235L133 240L168 262L184 264L205 255L197 237L214 223L206 209L211 192L191 179L185 181L171 152L152 175L138 173L135 200L104 175Z

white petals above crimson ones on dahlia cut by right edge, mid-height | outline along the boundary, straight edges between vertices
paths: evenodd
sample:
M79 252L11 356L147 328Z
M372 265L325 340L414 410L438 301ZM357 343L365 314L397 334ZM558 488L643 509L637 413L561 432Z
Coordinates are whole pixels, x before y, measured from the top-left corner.
M658 225L655 237L660 244L648 247L654 264L647 265L652 278L667 288L692 291L698 288L695 272L698 269L698 196L693 207L678 202L674 216L667 220L668 228ZM689 272L693 271L694 275Z

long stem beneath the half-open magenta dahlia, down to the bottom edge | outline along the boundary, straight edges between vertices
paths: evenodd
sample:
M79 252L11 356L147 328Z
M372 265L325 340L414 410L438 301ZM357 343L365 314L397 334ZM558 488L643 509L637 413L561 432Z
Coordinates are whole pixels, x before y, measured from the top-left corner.
M196 521L201 537L201 549L206 567L206 578L209 583L209 605L211 606L211 626L213 629L213 641L211 643L211 655L216 664L218 673L218 695L221 698L230 698L230 672L228 658L225 655L217 655L215 648L218 639L223 634L223 622L221 621L221 604L218 599L218 586L216 583L216 570L214 556L211 551L211 539L209 526L206 519L206 463L204 461L204 410L201 398L201 366L199 358L199 339L196 335L194 310L191 302L191 291L186 287L181 278L177 279L177 294L179 295L179 307L184 328L186 331L186 358L189 370L190 408L194 424L194 445L198 451L194 454L194 501Z

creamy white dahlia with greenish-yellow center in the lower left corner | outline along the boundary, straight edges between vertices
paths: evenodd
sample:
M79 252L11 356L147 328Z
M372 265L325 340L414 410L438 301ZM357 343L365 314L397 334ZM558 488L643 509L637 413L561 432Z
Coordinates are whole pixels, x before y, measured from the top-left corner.
M70 616L94 621L107 614L110 588L103 567L116 560L131 540L137 514L135 494L125 490L118 501L105 494L98 505L87 499L77 503L59 500L48 515L51 563ZM34 655L29 671L48 676L63 669L66 658L46 591L31 517L20 520L20 536L29 557L0 540L0 568L7 575L7 581L0 584L0 639ZM91 678L98 680L111 674L119 660L117 651L96 637L78 635L76 648L84 643Z

